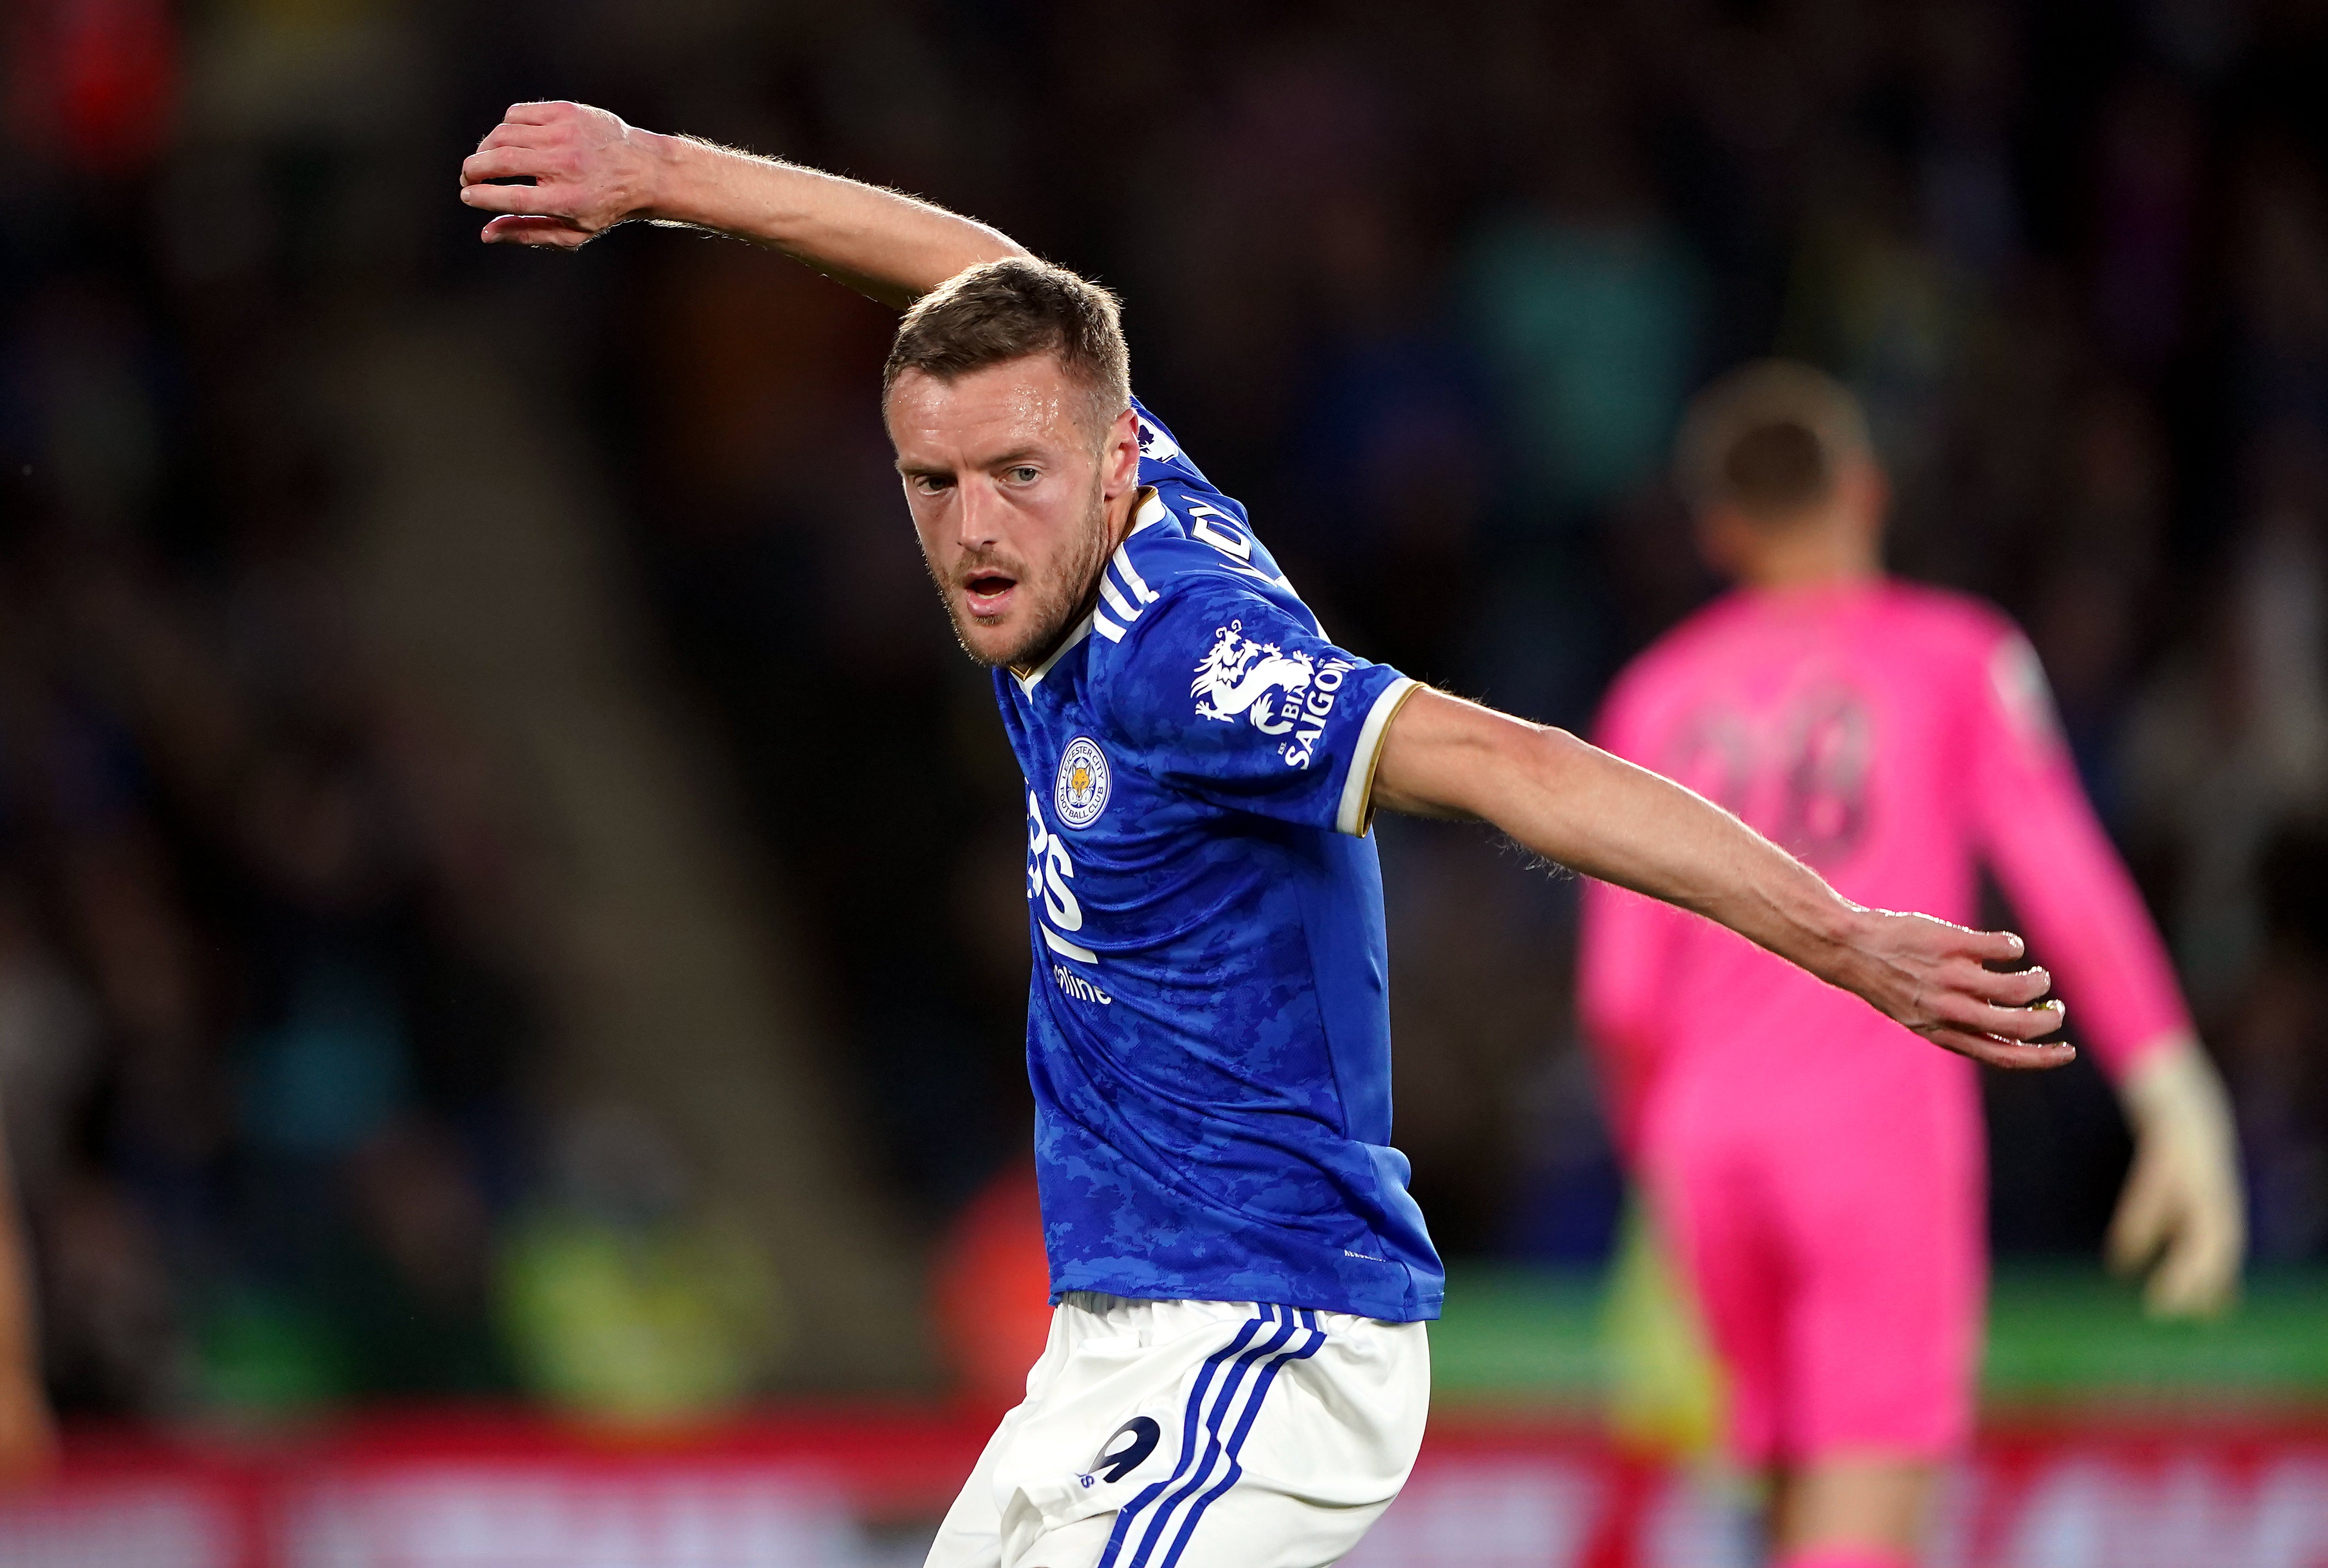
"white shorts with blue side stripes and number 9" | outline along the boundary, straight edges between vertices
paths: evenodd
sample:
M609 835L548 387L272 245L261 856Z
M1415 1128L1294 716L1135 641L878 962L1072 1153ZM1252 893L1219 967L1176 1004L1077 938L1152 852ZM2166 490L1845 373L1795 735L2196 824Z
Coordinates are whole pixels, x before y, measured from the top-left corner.
M1069 1293L927 1568L1325 1568L1406 1484L1422 1324Z

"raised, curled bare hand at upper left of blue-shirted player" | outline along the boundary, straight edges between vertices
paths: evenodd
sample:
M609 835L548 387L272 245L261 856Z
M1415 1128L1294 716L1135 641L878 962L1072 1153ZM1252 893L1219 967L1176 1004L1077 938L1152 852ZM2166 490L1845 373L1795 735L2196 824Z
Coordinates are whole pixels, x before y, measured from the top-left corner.
M654 209L661 140L589 105L514 102L461 161L461 200L501 214L484 226L487 244L575 249Z

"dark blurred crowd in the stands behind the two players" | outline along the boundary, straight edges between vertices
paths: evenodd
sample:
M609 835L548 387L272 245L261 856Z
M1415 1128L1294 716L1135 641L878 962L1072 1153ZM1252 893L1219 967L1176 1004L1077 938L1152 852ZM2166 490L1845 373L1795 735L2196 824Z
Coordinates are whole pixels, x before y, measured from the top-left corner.
M1101 277L1143 400L1336 637L1555 724L1716 586L1665 477L1688 393L1774 349L1837 370L1897 484L1895 565L2044 654L2237 1098L2258 1256L2328 1256L2328 7L23 0L7 26L0 1103L68 1407L540 1387L566 1319L526 1303L594 1289L587 1224L670 1207L652 1135L542 1091L538 782L354 610L382 475L342 344L428 312L489 323L475 354L610 498L899 1228L1024 1147L1020 784L892 491L887 319L733 244L480 251L459 154L542 95L917 191ZM1441 1245L1602 1256L1571 886L1455 828L1383 842L1399 1142ZM2100 1235L2125 1145L2081 1072L1990 1084L2007 1254Z

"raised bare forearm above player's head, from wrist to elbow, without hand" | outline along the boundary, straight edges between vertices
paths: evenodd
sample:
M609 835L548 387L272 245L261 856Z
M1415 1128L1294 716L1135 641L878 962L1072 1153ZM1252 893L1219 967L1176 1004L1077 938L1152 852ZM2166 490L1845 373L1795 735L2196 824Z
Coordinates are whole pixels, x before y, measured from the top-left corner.
M640 216L768 244L889 305L910 305L982 261L1027 254L985 223L896 191L696 137L638 135L654 168Z

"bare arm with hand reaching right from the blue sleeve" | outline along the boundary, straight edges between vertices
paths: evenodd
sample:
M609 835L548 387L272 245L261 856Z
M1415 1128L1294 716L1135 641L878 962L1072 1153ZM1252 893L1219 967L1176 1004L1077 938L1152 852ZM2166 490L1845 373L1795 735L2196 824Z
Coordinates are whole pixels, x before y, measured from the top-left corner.
M2077 1052L2021 938L1925 914L1862 910L1809 865L1672 779L1567 730L1441 691L1415 691L1383 735L1374 798L1397 812L1474 817L1588 877L1730 926L1925 1040L1995 1068L2058 1068Z

